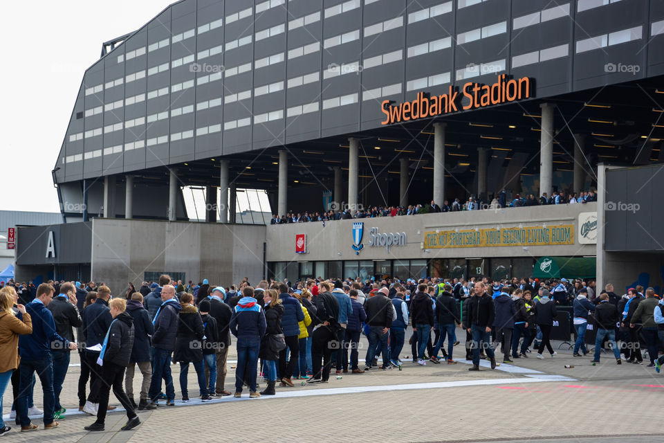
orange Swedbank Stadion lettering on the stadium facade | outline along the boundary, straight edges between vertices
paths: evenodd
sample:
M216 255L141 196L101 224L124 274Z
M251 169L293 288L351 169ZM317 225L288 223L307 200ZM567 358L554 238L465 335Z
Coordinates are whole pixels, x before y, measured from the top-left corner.
M418 92L415 100L399 105L391 105L390 100L383 100L380 104L380 111L385 114L385 120L380 124L391 125L419 118L441 116L457 112L459 109L467 111L468 109L500 105L531 98L532 94L533 80L531 78L523 77L515 80L502 74L499 75L498 81L491 85L468 82L463 85L461 91L458 87L450 85L448 93L430 96L429 93ZM464 98L467 103L462 105L461 100Z

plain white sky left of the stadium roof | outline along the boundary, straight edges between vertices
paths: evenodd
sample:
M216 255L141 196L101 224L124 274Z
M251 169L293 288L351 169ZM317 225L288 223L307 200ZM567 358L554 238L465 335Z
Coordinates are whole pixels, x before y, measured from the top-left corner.
M0 210L59 212L51 170L83 73L102 42L174 1L3 1L0 14Z

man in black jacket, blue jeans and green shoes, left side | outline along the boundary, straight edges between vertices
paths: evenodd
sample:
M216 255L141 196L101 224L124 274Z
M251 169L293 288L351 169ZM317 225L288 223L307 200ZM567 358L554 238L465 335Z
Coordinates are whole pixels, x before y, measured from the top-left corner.
M74 285L66 282L60 286L59 295L53 297L53 300L46 307L53 314L55 332L68 341L75 341L73 328L80 327L83 324L76 302ZM64 418L65 410L60 404L60 392L62 392L62 383L64 383L64 378L69 370L70 352L68 348L62 347L59 342L51 344L50 355L53 358L53 392L55 394L53 418L56 420Z

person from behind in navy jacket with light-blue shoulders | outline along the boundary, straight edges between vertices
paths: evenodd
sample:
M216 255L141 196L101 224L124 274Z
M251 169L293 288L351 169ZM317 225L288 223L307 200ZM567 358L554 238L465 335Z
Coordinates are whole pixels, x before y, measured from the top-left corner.
M237 365L233 397L241 397L242 386L247 383L249 397L257 398L261 395L256 389L256 365L267 324L263 308L254 298L254 289L246 286L242 289L242 295L243 297L238 300L233 316L230 318L230 332L237 337ZM248 380L245 372L248 372Z

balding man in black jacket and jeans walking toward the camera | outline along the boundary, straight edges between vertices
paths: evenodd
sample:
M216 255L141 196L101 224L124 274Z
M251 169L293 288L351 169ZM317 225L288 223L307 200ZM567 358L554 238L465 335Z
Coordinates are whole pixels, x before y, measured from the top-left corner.
M496 368L496 357L491 345L491 327L496 316L493 299L486 293L483 282L476 282L474 296L468 300L468 323L470 328L466 331L472 334L472 368L470 371L479 371L479 349L484 350L491 359L491 369Z

